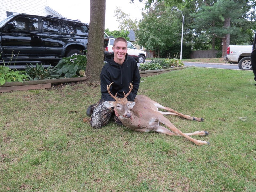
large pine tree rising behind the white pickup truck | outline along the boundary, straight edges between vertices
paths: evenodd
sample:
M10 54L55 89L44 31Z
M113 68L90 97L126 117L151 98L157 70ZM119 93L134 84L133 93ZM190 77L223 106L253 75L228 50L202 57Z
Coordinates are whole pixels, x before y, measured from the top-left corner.
M197 3L200 1L197 1ZM255 11L255 1L242 0L215 0L201 1L195 13L194 28L199 36L211 39L214 50L215 38L221 39L222 57L226 55L227 47L230 44L230 37L236 41L249 39L248 29L251 29L250 17Z

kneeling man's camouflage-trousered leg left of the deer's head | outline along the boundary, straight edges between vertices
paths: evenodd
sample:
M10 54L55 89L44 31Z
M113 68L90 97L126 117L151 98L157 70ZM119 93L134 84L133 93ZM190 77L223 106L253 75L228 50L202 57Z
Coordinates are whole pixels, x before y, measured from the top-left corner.
M94 107L89 123L94 129L100 129L107 125L114 109L107 109L103 104L104 100L101 99Z

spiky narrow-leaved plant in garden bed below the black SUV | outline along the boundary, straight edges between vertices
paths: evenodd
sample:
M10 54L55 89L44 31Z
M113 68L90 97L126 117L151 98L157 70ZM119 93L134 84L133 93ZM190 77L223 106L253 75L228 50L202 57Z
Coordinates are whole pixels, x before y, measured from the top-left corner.
M59 73L56 73L55 67L48 66L45 69L45 66L42 64L36 63L36 66L34 67L31 63L30 66L26 66L26 75L27 77L33 81L33 80L42 80L42 79L58 79L61 78L61 75Z

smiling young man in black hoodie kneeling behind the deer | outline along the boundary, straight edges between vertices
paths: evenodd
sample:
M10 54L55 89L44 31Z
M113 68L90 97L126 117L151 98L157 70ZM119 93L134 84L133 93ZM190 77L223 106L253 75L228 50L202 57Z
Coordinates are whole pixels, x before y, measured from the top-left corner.
M97 104L90 105L87 109L87 115L90 116L90 124L98 129L109 122L114 109L107 109L104 101L114 101L107 91L107 85L114 82L110 87L110 92L118 98L123 98L123 92L129 92L130 82L133 84L132 92L127 96L128 101L134 101L139 89L140 75L137 62L134 58L128 57L127 41L125 38L115 39L113 48L114 54L106 56L107 63L101 70L101 99ZM116 114L118 115L118 114ZM114 121L122 125L117 116Z

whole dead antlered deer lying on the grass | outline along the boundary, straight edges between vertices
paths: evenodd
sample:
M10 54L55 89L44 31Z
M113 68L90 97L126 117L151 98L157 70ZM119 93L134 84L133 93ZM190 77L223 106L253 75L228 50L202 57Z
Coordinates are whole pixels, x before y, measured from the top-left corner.
M207 145L210 144L207 141L201 141L197 139L193 139L189 136L191 135L208 135L207 131L195 131L193 133L182 133L179 129L177 129L168 119L166 119L163 115L177 115L189 120L203 121L203 118L198 117L190 117L188 115L183 115L177 111L174 111L171 108L164 107L159 103L151 100L145 95L137 95L134 99L134 102L127 100L127 95L131 93L133 89L133 85L130 83L131 87L129 93L124 94L123 98L117 98L117 95L113 96L109 90L112 83L107 86L107 90L111 97L115 99L115 101L105 101L104 105L110 109L114 107L117 113L119 114L119 120L130 129L138 132L149 132L155 131L158 133L165 133L167 135L176 135L183 136L195 143L196 145ZM165 109L167 112L159 111L159 109ZM163 123L167 127L167 129L163 126L159 125L159 122ZM172 132L173 131L173 132Z

